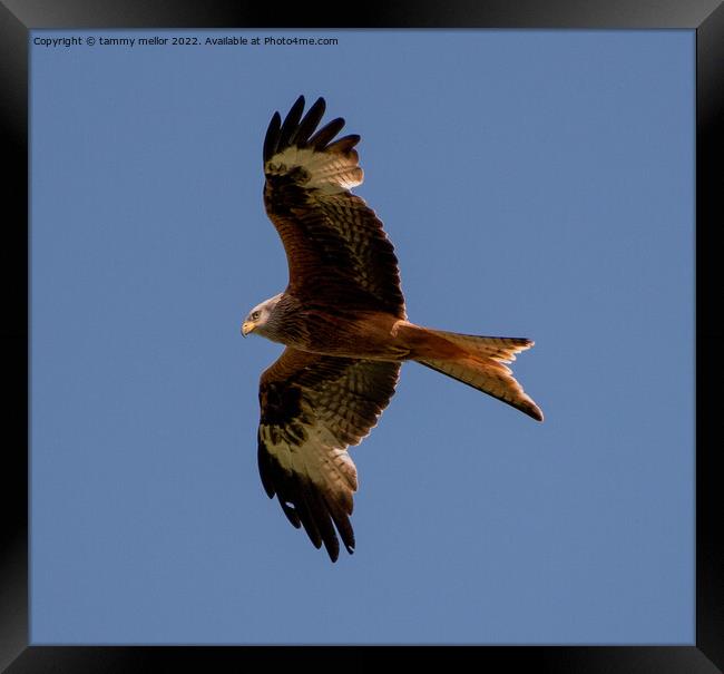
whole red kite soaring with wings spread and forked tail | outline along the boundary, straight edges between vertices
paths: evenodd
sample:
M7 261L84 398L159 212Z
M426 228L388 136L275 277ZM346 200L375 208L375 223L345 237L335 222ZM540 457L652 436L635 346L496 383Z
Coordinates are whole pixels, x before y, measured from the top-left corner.
M319 98L300 96L264 139L264 205L288 263L288 285L246 316L254 332L284 344L260 381L258 469L294 527L335 561L350 524L356 469L348 448L376 424L403 361L452 377L542 421L505 363L534 342L458 334L408 321L394 248L382 223L351 187L362 183L354 147L336 138L342 118L317 130ZM336 138L336 139L335 139ZM336 531L335 531L336 529Z

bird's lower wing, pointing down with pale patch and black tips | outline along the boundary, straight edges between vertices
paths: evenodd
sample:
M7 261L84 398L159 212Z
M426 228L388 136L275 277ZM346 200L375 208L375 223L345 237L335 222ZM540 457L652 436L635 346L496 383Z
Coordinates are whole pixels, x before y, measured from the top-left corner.
M334 531L351 554L356 469L346 448L358 445L394 393L400 363L333 358L287 348L260 382L258 469L270 498L303 526L332 561Z

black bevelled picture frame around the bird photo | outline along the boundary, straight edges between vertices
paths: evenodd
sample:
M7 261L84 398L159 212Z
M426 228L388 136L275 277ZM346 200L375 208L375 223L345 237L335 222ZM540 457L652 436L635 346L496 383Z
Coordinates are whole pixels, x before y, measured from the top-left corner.
M696 29L696 645L486 646L482 665L551 673L715 673L724 667L724 546L721 473L714 443L718 400L711 382L723 372L718 326L722 265L714 232L721 228L722 119L724 119L724 7L722 0L404 0L360 2L348 20L329 6L153 0L0 0L0 111L3 191L12 215L3 218L0 268L3 292L0 344L7 441L0 470L0 668L21 672L136 672L175 663L218 671L268 658L270 647L40 647L28 645L28 31L35 28L579 28ZM8 6L11 9L8 9ZM718 215L718 218L716 218ZM718 300L718 302L716 302ZM721 310L720 310L721 311ZM699 351L701 349L701 351ZM704 360L705 359L705 360ZM280 619L284 619L280 616ZM331 651L341 647L332 647ZM454 652L446 649L449 657ZM299 666L310 648L277 647ZM376 649L358 648L364 662ZM349 663L345 654L341 655ZM383 653L383 656L387 656ZM293 658L293 661L291 660ZM716 663L716 664L713 664ZM310 662L310 664L312 664ZM449 660L447 666L454 666ZM462 664L462 663L461 663Z

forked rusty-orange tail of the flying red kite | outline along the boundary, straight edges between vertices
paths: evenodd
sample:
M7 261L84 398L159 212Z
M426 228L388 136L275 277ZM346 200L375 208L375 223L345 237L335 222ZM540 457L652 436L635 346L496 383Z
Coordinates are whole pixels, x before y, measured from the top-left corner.
M424 330L451 342L457 349L439 350L440 355L447 351L443 358L437 358L437 353L431 356L428 352L414 360L542 421L540 408L526 394L512 377L510 368L503 364L516 360L516 353L530 349L534 342L518 338L491 338Z

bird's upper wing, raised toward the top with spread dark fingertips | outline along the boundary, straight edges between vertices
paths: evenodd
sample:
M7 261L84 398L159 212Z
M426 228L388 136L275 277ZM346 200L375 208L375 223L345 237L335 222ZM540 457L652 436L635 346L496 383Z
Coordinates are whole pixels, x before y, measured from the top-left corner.
M282 123L275 113L264 140L264 205L286 251L287 292L306 305L372 310L405 318L394 248L382 223L350 187L362 168L360 136L334 140L344 126L333 119L314 133L324 114L319 98L304 118L300 96Z

